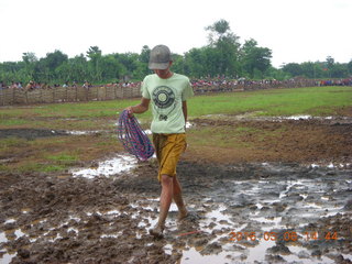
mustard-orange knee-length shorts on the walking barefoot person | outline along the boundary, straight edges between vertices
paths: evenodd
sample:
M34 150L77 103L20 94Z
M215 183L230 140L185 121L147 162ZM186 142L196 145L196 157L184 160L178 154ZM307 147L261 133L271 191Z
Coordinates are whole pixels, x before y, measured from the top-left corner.
M176 176L176 166L180 154L186 150L186 134L153 134L156 158L158 162L157 179L162 175Z

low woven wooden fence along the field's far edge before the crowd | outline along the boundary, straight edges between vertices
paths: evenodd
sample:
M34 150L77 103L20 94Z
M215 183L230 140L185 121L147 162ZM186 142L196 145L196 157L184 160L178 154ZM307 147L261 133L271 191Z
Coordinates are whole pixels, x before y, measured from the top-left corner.
M196 94L257 90L270 88L296 88L317 86L315 80L287 80L274 82L243 82L194 87ZM105 101L141 97L141 87L56 87L25 91L19 88L0 89L0 106L33 105L77 101Z

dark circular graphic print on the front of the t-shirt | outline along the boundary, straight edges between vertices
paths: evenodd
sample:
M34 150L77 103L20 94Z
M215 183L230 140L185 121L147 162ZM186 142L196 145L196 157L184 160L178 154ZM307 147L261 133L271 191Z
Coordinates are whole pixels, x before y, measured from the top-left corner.
M177 103L174 89L168 86L158 86L154 89L152 98L158 120L167 121L168 114L175 110Z

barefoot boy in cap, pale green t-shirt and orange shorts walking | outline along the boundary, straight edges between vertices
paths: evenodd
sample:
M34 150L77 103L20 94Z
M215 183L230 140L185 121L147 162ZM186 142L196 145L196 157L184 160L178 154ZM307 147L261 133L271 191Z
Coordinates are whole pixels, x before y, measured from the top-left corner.
M160 217L157 224L150 230L154 237L163 237L165 220L174 199L179 215L187 217L188 211L182 197L182 187L176 176L180 154L186 150L187 99L194 96L188 77L170 72L173 64L170 51L157 45L151 51L148 68L154 70L142 82L142 100L129 107L130 114L143 113L152 106L153 143L158 161L158 180L162 185Z

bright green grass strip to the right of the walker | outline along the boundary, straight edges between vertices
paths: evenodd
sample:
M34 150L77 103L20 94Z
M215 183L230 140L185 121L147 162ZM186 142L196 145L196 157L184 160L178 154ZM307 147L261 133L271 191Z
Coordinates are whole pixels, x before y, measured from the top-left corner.
M199 96L189 100L189 116L240 114L256 116L333 114L337 108L352 106L352 87L314 87L273 89L248 92Z

